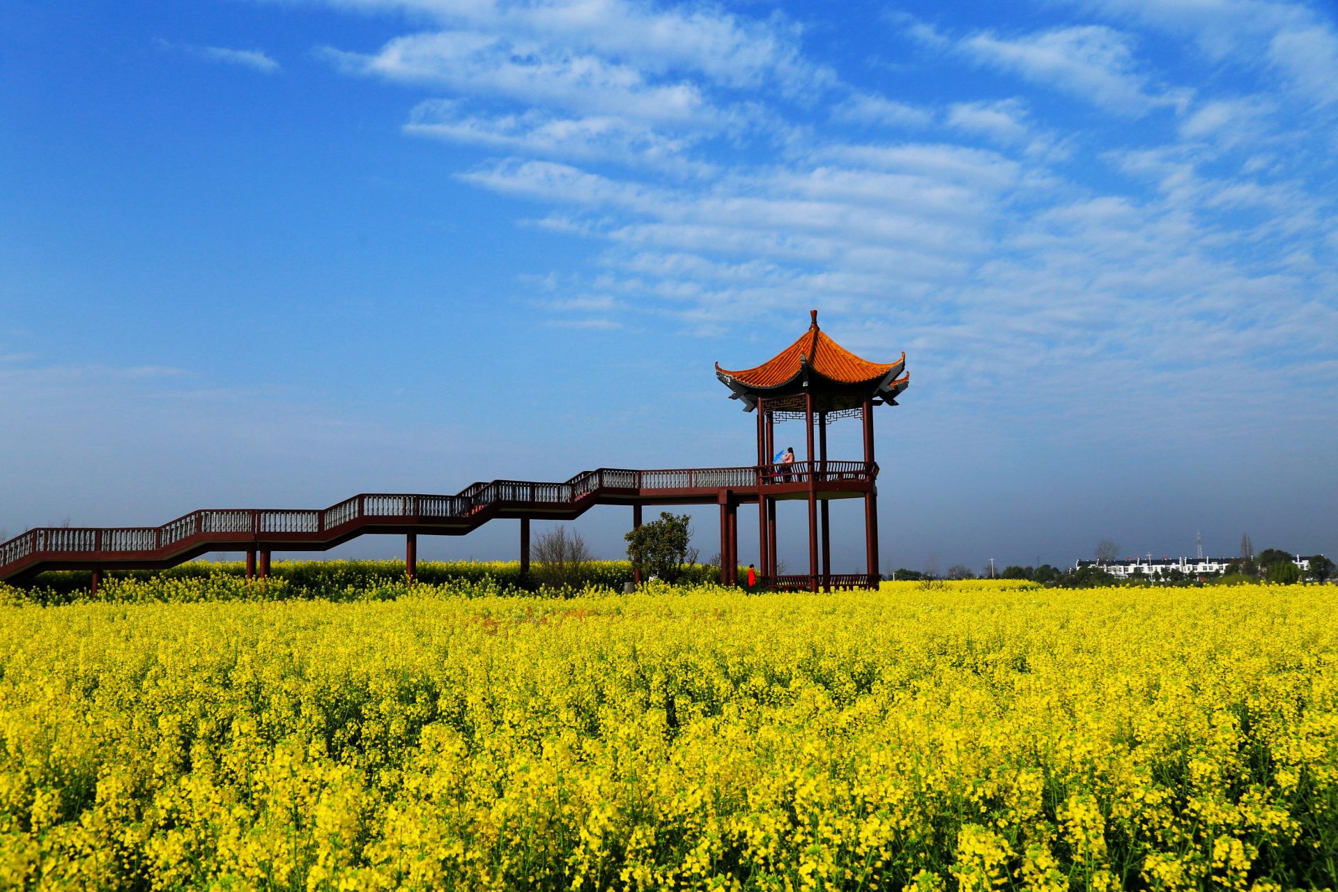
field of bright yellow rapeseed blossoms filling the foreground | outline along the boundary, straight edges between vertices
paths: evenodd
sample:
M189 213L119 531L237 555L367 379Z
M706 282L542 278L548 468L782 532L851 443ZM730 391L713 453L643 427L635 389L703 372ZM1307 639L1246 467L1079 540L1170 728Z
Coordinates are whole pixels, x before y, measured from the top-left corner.
M1334 587L171 584L0 607L0 888L1335 885Z

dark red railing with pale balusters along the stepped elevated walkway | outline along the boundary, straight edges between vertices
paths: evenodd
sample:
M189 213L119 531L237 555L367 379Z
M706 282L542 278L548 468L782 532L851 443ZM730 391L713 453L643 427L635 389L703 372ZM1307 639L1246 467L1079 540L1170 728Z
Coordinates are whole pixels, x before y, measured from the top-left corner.
M385 520L444 523L472 528L495 510L585 507L601 497L713 496L724 489L756 492L763 487L793 483L859 483L878 475L876 464L863 461L796 461L724 468L669 468L633 471L598 468L583 471L565 483L491 480L475 483L459 493L361 493L324 510L226 508L193 511L161 527L75 528L43 527L0 543L0 579L44 562L74 560L91 566L98 560L171 560L202 546L235 546L238 542L301 542L306 547L357 535L359 527L383 526ZM785 579L785 578L781 578ZM807 586L807 576L803 576ZM836 579L835 576L832 579ZM788 583L785 583L788 584ZM838 584L838 583L834 583Z

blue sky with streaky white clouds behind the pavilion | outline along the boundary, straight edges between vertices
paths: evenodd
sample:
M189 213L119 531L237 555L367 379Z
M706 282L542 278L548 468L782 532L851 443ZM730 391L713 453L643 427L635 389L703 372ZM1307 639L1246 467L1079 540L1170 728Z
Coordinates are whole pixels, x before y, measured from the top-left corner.
M818 308L890 567L1338 552L1333 8L981 7L4 4L0 530L744 464Z

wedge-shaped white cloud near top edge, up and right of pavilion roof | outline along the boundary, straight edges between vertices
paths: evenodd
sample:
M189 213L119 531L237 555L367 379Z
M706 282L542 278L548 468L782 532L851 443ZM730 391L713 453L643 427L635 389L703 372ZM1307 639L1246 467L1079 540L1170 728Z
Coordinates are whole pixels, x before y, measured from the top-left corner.
M978 32L958 48L983 64L1068 92L1127 115L1180 106L1183 92L1153 90L1139 70L1128 35L1101 25L1076 25L1002 37Z

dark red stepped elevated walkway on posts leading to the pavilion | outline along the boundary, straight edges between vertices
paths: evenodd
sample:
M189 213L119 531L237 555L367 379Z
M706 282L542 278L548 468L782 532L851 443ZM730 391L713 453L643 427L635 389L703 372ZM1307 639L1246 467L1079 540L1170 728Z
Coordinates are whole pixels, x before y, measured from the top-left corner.
M637 523L642 506L720 504L724 518L727 508L732 516L736 506L756 503L759 493L777 500L807 499L811 491L823 500L860 497L874 491L876 477L875 463L826 460L662 471L598 468L565 483L475 483L456 495L364 492L324 510L193 511L161 527L40 527L0 544L0 580L21 582L43 570L92 570L96 587L103 570L171 567L210 551L245 551L249 560L258 552L265 574L270 551L325 551L365 534L408 536L412 572L417 534L459 536L502 518L522 520L522 562L527 563L530 520L570 520L597 504L633 506ZM735 551L723 547L721 554ZM835 576L830 584L839 584Z

